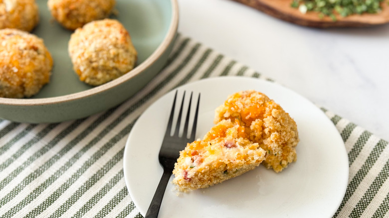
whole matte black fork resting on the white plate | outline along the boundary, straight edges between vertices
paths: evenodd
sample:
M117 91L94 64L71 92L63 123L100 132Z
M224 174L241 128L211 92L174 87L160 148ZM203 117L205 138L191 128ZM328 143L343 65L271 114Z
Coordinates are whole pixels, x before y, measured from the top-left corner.
M173 173L174 164L176 163L177 158L180 157L180 151L184 150L187 143L194 141L194 135L196 133L196 125L197 125L198 106L200 104L200 94L198 94L196 112L194 114L194 121L193 121L193 126L192 126L192 132L191 132L190 137L188 138L187 135L188 135L188 126L189 126L189 115L191 112L191 105L192 105L192 95L193 95L193 92L191 93L191 98L189 100L189 107L188 107L188 112L187 112L187 118L185 119L183 135L180 137L179 131L180 131L181 116L183 114L185 92L184 92L184 96L183 96L183 101L181 102L181 108L180 108L179 116L177 119L176 129L174 131L174 134L171 136L170 131L172 129L173 115L174 115L174 109L176 107L176 99L177 99L177 91L176 91L176 95L175 95L174 101L173 101L172 111L170 112L168 127L166 128L165 137L164 137L164 140L162 141L160 154L158 156L160 164L164 168L164 174L162 174L161 181L158 185L157 191L154 194L153 200L151 201L149 210L147 210L145 218L157 218L158 217L158 213L160 212L160 207L161 207L161 203L162 203L162 198L164 197L165 189L166 189L166 186L168 185L170 176Z

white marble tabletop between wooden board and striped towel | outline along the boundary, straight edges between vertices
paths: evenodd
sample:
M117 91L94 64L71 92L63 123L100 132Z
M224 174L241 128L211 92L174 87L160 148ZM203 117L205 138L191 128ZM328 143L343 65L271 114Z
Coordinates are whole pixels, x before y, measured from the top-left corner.
M179 0L179 31L389 140L389 25L315 29L230 0Z

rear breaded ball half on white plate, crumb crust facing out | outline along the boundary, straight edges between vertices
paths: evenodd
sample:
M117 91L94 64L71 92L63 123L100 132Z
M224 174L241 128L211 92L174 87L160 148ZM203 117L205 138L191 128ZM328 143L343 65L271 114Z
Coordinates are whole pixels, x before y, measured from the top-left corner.
M266 151L262 162L280 172L297 160L299 142L296 122L273 100L253 90L235 93L215 110L214 123L222 119L238 121L247 138Z

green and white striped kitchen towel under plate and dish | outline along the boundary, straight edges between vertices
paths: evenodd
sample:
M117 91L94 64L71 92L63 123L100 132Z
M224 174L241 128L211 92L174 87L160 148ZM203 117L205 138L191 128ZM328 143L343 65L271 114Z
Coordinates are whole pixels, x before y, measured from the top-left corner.
M0 120L0 217L141 218L123 177L124 146L137 117L178 86L228 75L266 79L179 36L161 73L113 109L52 124ZM389 217L388 142L323 111L342 135L350 162L349 186L334 217Z

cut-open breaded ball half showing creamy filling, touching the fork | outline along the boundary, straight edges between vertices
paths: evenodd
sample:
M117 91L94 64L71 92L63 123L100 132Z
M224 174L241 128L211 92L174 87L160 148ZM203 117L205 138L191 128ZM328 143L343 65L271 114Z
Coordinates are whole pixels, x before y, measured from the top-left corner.
M202 140L188 143L175 164L173 182L180 191L206 188L259 166L266 152L245 138L238 122L221 120Z

